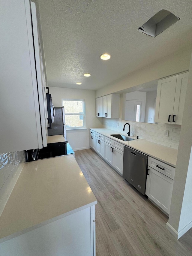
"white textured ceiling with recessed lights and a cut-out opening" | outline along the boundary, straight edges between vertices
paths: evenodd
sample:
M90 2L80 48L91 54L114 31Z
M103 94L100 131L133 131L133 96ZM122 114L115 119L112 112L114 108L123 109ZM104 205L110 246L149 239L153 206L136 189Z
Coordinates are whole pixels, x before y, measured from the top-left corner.
M39 8L48 86L97 90L192 42L191 0L39 0ZM137 31L162 9L181 20L155 38Z

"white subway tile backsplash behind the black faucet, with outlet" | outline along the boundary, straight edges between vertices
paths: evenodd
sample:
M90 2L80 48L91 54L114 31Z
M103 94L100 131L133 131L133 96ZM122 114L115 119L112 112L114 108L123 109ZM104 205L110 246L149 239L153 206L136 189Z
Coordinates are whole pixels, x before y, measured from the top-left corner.
M149 140L167 147L178 149L181 125L164 123L148 124L125 121L121 118L103 118L104 128L127 134L129 128L128 125L125 126L125 131L123 131L123 126L125 123L129 123L131 126L131 136L139 136L140 139ZM164 130L169 131L168 137L164 136Z

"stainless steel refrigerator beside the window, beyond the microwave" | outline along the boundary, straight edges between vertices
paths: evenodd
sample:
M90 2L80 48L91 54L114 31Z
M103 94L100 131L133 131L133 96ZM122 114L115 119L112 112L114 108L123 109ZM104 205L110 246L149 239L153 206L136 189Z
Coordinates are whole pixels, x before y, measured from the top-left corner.
M48 136L63 135L65 140L67 140L64 107L55 107L54 109L54 123L51 124L51 130L48 131Z

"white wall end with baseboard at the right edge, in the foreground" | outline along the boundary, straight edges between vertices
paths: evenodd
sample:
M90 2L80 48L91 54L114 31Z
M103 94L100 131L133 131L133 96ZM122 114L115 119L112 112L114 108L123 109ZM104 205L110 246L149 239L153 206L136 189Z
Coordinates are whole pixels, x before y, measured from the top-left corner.
M179 238L192 227L192 58L184 104L168 229Z

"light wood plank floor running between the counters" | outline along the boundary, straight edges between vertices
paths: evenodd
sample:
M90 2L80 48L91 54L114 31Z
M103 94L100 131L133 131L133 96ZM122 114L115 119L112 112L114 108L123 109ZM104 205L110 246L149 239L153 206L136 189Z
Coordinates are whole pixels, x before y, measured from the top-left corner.
M192 255L192 230L179 240L168 217L116 173L92 149L75 152L96 205L96 255Z

